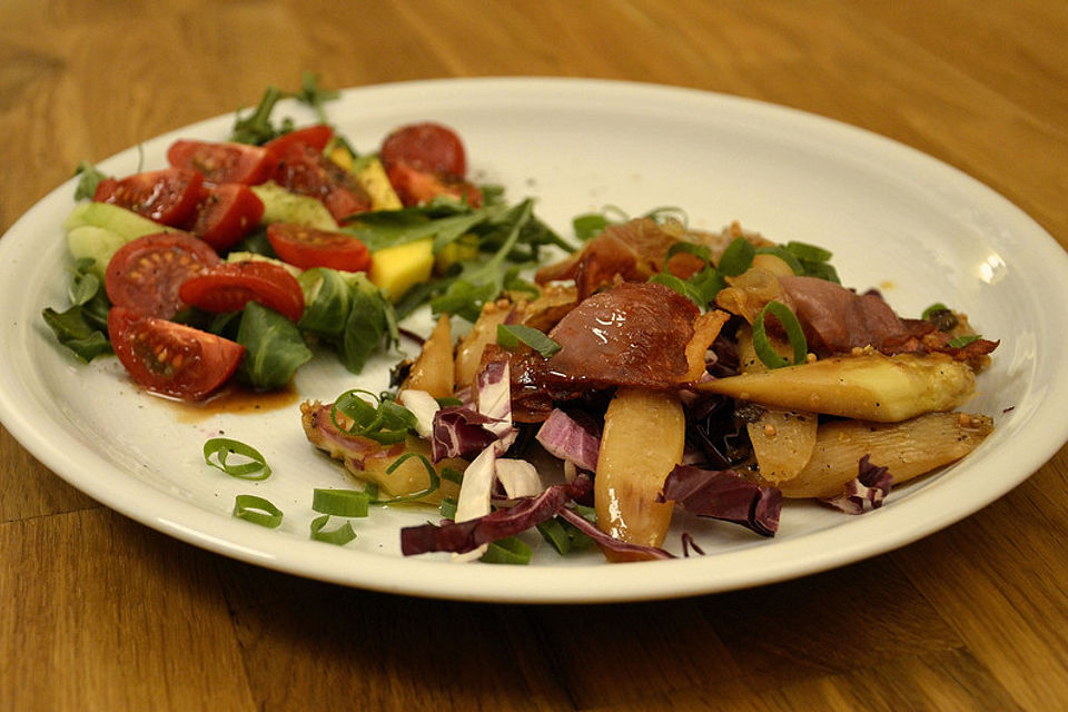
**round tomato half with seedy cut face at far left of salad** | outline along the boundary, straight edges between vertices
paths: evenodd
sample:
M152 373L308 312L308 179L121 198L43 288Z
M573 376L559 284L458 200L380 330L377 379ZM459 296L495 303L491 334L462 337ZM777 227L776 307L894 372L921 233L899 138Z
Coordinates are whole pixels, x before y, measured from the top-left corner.
M211 246L187 233L156 233L120 247L105 271L111 304L169 319L184 306L181 284L219 261Z

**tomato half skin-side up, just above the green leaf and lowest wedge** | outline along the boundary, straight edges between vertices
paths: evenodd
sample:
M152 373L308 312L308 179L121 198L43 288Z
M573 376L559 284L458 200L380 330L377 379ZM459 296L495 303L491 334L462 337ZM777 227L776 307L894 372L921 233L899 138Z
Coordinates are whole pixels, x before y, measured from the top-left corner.
M244 309L249 301L294 322L304 314L304 291L296 277L266 261L221 263L187 279L179 296L187 304L219 314Z

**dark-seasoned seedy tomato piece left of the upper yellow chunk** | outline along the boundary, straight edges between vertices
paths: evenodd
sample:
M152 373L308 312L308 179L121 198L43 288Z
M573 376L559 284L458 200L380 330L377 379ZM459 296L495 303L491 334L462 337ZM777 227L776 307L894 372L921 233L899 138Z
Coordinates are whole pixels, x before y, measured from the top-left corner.
M290 192L322 200L335 220L370 209L370 197L355 176L306 144L286 150L275 181Z

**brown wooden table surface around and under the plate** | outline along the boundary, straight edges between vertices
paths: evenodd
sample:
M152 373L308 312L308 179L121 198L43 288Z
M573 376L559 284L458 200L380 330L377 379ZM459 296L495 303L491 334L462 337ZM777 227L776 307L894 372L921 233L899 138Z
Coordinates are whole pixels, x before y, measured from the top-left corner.
M310 68L335 87L582 76L797 107L967 171L1068 245L1064 2L3 0L0 18L0 230L80 160ZM1064 709L1066 452L975 516L837 571L538 607L209 554L0 429L0 709Z

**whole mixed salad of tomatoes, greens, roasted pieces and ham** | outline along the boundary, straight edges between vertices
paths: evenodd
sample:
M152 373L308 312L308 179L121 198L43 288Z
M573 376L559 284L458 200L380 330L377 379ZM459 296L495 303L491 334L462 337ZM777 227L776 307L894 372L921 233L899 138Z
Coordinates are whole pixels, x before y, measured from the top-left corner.
M300 407L364 510L438 508L402 531L406 555L522 563L536 530L561 554L661 558L679 508L773 536L783 498L868 512L992 429L959 411L997 347L963 314L902 318L820 247L676 210L578 216L572 245L532 200L475 185L452 129L360 154L314 80L297 98L319 123L275 125L280 96L229 141L177 141L167 169L87 167L71 305L44 319L81 358L113 350L191 400L284 387L310 347L358 374L416 339L389 390ZM403 324L427 304L421 339Z

